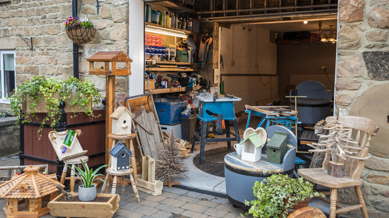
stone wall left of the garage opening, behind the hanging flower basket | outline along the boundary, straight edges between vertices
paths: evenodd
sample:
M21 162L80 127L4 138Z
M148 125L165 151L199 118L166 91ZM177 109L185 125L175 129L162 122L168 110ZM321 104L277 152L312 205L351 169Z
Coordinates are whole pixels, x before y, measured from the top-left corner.
M83 0L84 8L97 29L92 42L81 45L80 79L92 79L105 95L105 77L87 74L86 58L98 51L123 51L128 54L128 0ZM0 49L15 49L16 86L35 75L65 80L73 75L73 45L63 22L71 16L70 0L9 0L0 3ZM80 17L85 17L84 10ZM33 50L16 34L32 37ZM127 77L117 77L117 95L128 95ZM8 105L0 104L6 110Z

